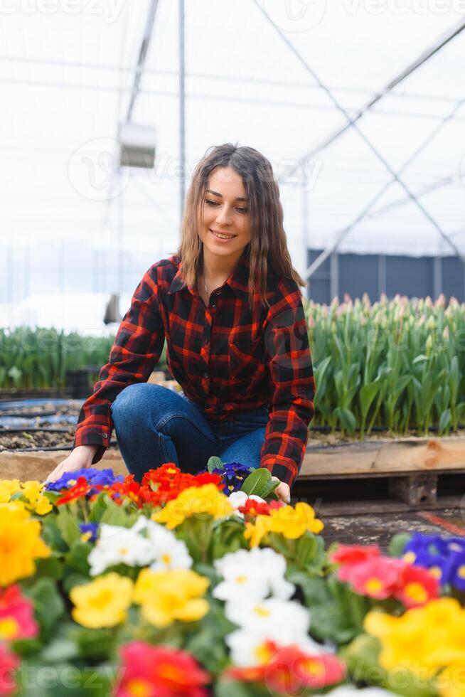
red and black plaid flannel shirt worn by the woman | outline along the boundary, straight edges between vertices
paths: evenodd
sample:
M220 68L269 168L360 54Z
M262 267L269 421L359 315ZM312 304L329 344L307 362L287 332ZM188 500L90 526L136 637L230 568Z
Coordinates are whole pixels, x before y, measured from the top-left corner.
M304 457L315 394L301 292L293 280L270 273L270 307L257 295L251 312L248 268L244 251L207 308L196 288L183 287L177 256L146 271L77 420L73 447L100 446L92 464L109 445L110 405L127 385L149 379L166 337L171 375L212 420L269 408L260 465L292 485Z

